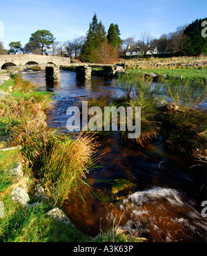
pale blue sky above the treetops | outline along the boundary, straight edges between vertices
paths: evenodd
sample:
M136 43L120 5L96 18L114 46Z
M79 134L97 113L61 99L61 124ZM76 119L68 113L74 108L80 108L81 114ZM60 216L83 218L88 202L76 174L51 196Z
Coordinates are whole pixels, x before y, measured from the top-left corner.
M111 23L119 25L121 39L144 32L158 38L207 16L206 0L6 0L0 8L6 48L14 41L26 44L41 29L59 42L86 35L95 12L106 32Z

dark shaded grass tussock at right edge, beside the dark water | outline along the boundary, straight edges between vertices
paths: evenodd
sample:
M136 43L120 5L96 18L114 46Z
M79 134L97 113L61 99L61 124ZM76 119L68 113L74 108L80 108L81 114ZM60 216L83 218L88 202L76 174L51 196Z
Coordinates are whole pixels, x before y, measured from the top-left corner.
M165 147L188 156L207 156L206 120L206 113L197 109L165 113L161 129Z

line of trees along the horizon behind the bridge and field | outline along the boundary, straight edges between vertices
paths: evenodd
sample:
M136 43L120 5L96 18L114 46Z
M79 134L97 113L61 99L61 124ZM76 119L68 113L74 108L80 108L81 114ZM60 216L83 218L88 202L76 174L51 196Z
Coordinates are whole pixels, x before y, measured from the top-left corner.
M92 17L86 37L75 37L66 42L56 41L49 30L37 30L30 36L29 42L22 46L21 42L10 42L7 51L0 42L0 54L33 53L40 55L59 55L62 57L75 57L82 62L111 63L126 51L132 53L136 49L146 55L153 53L155 47L158 53L172 55L199 56L207 53L206 34L204 30L205 19L196 19L191 24L179 26L173 33L164 34L159 39L143 33L138 41L135 37L121 39L119 26L110 24L108 33L97 15ZM206 31L206 30L205 30Z

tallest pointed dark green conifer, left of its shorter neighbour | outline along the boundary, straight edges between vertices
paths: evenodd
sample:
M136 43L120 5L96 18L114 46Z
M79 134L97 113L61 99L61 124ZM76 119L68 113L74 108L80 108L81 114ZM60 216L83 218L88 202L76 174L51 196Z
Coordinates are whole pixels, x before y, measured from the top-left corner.
M97 15L95 13L86 35L86 42L81 49L81 61L95 62L94 51L100 46L104 39L106 39L105 28L101 21L98 23Z

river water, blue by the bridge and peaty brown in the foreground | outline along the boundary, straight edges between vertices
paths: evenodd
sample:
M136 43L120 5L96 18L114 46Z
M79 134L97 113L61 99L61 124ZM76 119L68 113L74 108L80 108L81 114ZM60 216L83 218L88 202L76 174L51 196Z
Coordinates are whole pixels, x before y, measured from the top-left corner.
M114 79L92 77L77 82L75 73L61 71L57 86L46 86L44 72L23 73L39 91L57 93L50 127L66 130L66 109L87 95L122 95ZM97 235L119 226L148 241L207 241L206 167L195 166L183 156L167 152L161 138L139 147L119 134L98 136L99 166L87 176L92 196L83 188L85 203L78 197L66 201L65 210L82 232ZM191 167L191 168L190 168Z

